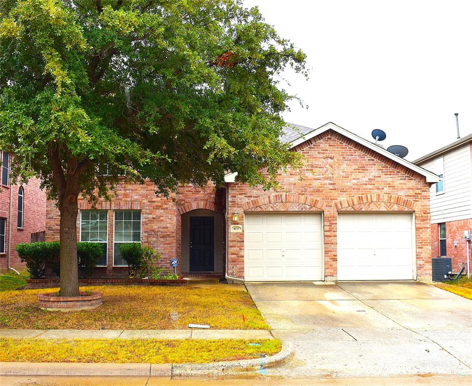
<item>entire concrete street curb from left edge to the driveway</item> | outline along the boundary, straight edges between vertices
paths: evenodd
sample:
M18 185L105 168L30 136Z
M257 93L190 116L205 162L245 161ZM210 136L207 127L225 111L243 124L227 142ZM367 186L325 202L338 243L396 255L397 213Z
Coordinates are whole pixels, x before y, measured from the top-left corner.
M0 362L0 375L77 375L77 376L197 376L258 371L276 367L294 356L291 345L284 345L275 355L260 359L243 359L203 364L150 363L31 363Z

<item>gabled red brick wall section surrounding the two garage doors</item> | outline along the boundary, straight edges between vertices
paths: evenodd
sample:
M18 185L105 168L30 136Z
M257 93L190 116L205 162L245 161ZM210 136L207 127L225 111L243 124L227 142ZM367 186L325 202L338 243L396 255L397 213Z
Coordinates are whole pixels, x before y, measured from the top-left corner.
M279 175L285 191L274 194L242 183L229 184L228 221L237 212L323 212L325 278L337 274L339 211L415 213L417 275L431 275L429 186L424 176L332 130L295 148L306 157L300 170ZM228 234L228 274L244 277L244 233Z

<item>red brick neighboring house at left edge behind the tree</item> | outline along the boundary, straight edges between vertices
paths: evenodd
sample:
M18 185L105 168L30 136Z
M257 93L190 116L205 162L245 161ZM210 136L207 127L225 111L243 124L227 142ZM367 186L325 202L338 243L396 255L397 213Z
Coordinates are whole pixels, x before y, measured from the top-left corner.
M15 246L31 241L31 234L46 229L46 193L36 178L12 184L12 156L0 150L0 271L24 269Z

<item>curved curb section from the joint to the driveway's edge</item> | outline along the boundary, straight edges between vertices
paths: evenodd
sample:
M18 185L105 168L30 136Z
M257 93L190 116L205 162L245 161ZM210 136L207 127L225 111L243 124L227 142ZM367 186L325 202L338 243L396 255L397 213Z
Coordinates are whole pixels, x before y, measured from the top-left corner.
M172 376L199 376L199 375L234 375L242 372L255 372L262 368L277 367L289 362L295 352L292 345L282 345L282 349L275 355L260 359L229 360L212 363L182 363L172 365Z

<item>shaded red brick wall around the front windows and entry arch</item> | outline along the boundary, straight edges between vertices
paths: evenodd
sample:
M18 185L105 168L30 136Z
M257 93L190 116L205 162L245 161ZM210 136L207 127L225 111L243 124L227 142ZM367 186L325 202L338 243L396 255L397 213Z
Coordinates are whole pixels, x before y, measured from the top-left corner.
M197 209L206 209L224 215L226 194L225 189L215 189L210 184L205 189L181 186L179 190L178 196L166 199L156 197L154 187L149 182L142 185L123 182L117 186L116 199L112 202L101 200L97 204L97 210L108 212L108 264L107 267L97 267L95 276L128 275L127 267L113 266L113 216L115 210L141 211L141 236L144 242L149 240L152 248L161 254L162 257L157 263L158 267L169 268L169 260L172 258L177 258L181 262L181 215ZM79 198L79 210L88 209L91 209L90 204ZM46 241L59 240L59 211L51 201L47 203L46 222ZM156 236L152 234L148 238L148 231L156 231L157 240ZM219 230L223 233L224 231L224 228ZM80 213L77 218L77 240L80 240L79 233ZM223 245L223 251L226 250L225 245ZM223 258L225 261L226 256L223 255ZM180 268L180 264L178 268ZM219 273L220 277L224 276L224 268Z

